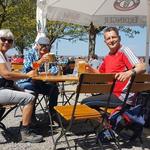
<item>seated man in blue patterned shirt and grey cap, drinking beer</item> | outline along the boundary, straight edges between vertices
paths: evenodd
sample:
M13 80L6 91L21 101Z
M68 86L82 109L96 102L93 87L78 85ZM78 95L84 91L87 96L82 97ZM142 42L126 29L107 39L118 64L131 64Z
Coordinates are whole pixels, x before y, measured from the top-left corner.
M29 71L34 70L33 68L33 62L36 62L40 65L39 71L44 71L44 63L48 61L48 58L46 57L46 53L49 52L49 39L47 37L40 37L35 45L34 48L29 49L24 54L24 66L23 66L23 73L28 73ZM58 67L57 66L50 66L49 69L50 73L55 75L58 73ZM54 83L45 83L43 81L33 81L31 78L24 79L17 81L17 85L20 88L30 90L35 95L36 94L44 94L49 97L49 108L51 113L54 112L53 107L57 105L57 99L58 99L58 87L57 84ZM35 111L35 109L34 109ZM35 116L33 113L33 120L35 120Z

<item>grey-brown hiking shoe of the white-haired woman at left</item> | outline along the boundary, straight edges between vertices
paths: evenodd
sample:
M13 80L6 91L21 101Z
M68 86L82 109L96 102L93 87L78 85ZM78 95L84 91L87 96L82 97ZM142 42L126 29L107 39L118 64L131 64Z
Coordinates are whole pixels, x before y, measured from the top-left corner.
M43 141L42 135L37 135L33 132L31 132L29 129L21 129L21 142L30 142L30 143L40 143Z

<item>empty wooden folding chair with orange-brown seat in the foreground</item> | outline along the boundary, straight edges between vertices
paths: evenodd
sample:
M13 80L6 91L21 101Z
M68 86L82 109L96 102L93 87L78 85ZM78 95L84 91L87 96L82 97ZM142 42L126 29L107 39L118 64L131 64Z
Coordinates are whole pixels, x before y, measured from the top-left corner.
M81 74L79 77L79 82L76 89L76 98L73 105L65 105L65 106L56 106L54 109L56 110L59 118L59 123L61 126L61 134L55 140L54 149L56 149L58 143L61 141L62 137L65 137L65 141L68 149L71 149L67 133L72 130L73 124L75 121L84 120L97 120L98 125L99 121L101 121L101 114L88 107L87 105L78 104L78 99L80 94L82 93L110 93L108 99L112 94L114 85L115 85L114 74ZM107 108L106 108L107 109ZM67 127L64 127L63 120L67 121ZM92 125L92 123L91 123ZM84 124L84 127L86 124ZM93 128L97 129L97 128ZM80 129L82 130L82 129ZM97 134L96 131L94 131ZM89 133L84 133L85 137L88 137ZM99 143L101 146L101 143Z

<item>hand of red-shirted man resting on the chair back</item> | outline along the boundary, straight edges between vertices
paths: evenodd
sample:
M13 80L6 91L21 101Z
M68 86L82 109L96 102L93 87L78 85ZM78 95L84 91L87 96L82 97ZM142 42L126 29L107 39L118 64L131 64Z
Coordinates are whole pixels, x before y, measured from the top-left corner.
M132 76L133 72L132 70L128 70L126 72L120 72L115 74L115 78L118 79L119 81L125 81L129 79Z

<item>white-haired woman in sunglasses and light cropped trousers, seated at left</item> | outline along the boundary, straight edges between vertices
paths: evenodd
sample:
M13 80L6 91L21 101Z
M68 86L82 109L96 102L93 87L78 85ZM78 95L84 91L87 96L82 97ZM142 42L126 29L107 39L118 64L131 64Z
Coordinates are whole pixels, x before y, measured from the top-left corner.
M12 47L13 41L14 36L9 29L0 30L0 105L19 104L24 106L21 125L22 141L31 143L41 142L43 137L30 132L29 128L35 97L25 92L8 89L10 88L8 83L11 82L11 85L13 83L11 80L28 78L32 74L32 72L28 74L11 72L11 65L6 52Z

